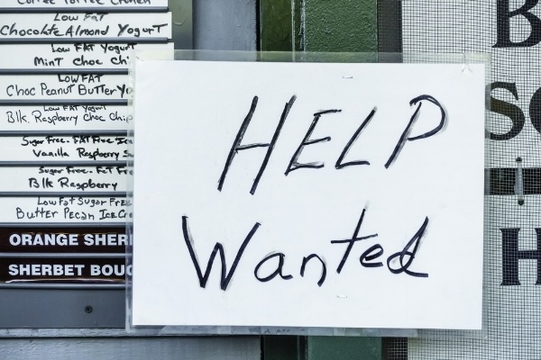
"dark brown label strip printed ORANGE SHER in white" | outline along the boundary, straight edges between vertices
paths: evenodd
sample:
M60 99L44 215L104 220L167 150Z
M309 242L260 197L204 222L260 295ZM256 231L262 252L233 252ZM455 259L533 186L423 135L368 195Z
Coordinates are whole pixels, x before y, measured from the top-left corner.
M133 245L125 227L0 227L0 253L118 253Z

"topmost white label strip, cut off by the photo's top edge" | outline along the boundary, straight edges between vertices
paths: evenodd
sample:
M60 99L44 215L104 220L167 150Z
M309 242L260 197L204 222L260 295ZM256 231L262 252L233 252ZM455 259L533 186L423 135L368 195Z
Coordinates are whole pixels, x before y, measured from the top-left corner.
M167 0L2 0L0 9L19 7L23 9L80 7L96 8L104 7L167 7Z

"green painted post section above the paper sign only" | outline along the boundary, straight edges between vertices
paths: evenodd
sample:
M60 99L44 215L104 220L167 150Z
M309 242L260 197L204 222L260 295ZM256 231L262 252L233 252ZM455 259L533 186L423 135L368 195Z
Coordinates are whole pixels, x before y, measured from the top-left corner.
M263 51L374 52L376 0L260 0Z

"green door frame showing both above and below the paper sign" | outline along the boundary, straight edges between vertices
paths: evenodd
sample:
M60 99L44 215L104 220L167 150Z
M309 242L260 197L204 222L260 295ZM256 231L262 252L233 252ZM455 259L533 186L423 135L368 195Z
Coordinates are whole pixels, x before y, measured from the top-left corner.
M295 50L327 52L379 50L378 11L382 9L377 0L293 1L259 1L258 45L262 51L291 51L293 46ZM381 50L399 51L383 45ZM261 341L264 360L383 358L381 338L264 336Z

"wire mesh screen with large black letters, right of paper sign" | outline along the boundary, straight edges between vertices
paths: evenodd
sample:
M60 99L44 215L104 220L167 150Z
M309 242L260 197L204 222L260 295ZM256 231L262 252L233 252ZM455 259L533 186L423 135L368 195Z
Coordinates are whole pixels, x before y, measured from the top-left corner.
M482 336L424 331L420 338L387 338L387 359L541 358L541 4L537 3L379 1L379 43L385 46L380 50L492 56Z

